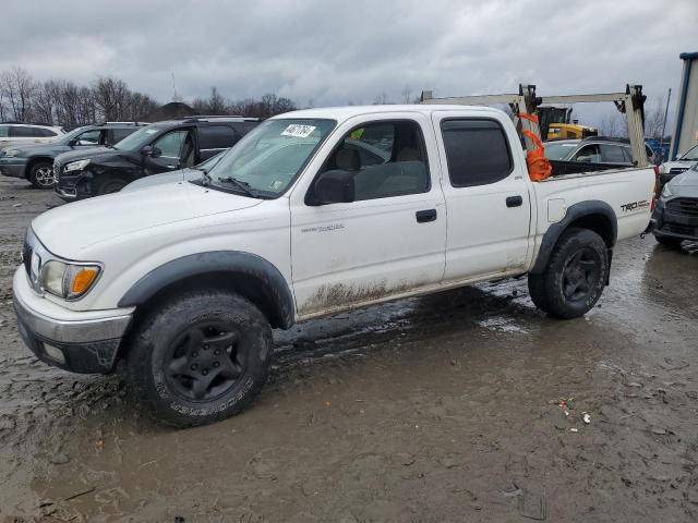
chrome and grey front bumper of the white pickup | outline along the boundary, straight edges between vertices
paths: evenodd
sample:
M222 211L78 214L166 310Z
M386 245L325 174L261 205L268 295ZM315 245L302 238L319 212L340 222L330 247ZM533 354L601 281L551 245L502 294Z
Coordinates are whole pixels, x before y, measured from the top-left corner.
M81 374L113 370L133 308L69 311L37 295L23 266L12 290L20 336L40 361Z

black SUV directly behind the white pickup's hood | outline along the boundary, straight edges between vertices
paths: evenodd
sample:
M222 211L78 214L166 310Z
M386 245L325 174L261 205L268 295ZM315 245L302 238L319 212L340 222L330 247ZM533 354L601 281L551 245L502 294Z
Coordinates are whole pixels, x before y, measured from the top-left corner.
M56 192L63 199L116 193L134 180L195 166L231 147L256 118L186 117L140 129L111 148L56 158Z

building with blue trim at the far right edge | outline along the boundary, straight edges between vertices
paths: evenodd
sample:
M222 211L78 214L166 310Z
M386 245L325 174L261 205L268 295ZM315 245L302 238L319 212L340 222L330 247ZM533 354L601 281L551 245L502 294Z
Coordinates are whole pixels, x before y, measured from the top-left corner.
M678 86L678 105L671 158L698 144L698 52L682 52L684 72Z

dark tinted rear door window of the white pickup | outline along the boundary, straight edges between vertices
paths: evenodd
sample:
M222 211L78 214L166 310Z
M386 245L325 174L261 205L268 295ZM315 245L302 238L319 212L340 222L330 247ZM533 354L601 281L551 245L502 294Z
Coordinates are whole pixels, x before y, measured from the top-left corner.
M514 169L504 129L495 120L454 119L441 124L454 187L486 185L507 178Z

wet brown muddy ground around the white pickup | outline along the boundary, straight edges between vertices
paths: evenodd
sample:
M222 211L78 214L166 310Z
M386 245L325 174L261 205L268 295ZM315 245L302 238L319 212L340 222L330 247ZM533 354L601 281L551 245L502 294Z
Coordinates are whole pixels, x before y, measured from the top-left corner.
M0 522L698 520L690 248L621 244L577 320L521 279L275 332L252 409L173 430L20 340L22 236L59 203L0 179Z

